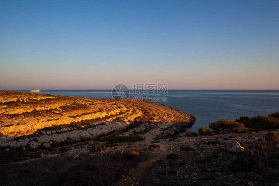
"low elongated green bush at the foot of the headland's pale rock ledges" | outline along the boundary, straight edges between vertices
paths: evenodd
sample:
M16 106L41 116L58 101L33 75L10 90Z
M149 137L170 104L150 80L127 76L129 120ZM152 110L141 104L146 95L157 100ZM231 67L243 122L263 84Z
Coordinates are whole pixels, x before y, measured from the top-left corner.
M142 137L140 134L138 135L119 135L119 136L108 136L106 137L106 141L108 144L113 144L113 143L124 143L124 142L137 142L144 140L145 138Z

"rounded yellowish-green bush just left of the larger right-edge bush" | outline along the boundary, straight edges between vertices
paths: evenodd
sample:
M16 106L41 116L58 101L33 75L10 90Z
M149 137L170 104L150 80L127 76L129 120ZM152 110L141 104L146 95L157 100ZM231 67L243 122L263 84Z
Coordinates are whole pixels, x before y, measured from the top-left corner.
M218 120L209 124L209 128L219 133L244 133L248 128L245 128L243 123L229 121L226 119Z

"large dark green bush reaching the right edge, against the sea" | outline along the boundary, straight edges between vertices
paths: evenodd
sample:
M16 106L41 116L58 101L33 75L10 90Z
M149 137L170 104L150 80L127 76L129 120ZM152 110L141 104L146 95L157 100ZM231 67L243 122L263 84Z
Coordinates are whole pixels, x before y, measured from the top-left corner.
M274 112L269 114L269 116L240 116L236 119L236 122L245 124L245 127L253 128L256 130L266 130L266 129L279 129L279 112Z

